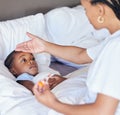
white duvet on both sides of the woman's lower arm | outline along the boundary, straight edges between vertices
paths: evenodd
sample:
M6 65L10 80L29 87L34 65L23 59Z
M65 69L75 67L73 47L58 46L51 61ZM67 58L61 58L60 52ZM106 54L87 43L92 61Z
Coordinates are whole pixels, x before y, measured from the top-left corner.
M77 70L66 77L52 92L63 102L82 104L86 92L87 69ZM73 77L75 76L75 77ZM39 103L32 93L14 80L0 75L0 115L61 115Z

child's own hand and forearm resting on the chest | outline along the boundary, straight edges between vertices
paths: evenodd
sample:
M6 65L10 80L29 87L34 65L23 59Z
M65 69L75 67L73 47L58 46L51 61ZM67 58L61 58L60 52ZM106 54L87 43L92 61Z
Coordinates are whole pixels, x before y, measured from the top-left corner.
M49 84L50 89L53 89L56 85L58 85L64 80L66 80L66 78L63 78L60 75L57 75L57 74L53 75L52 77L48 79L48 84Z

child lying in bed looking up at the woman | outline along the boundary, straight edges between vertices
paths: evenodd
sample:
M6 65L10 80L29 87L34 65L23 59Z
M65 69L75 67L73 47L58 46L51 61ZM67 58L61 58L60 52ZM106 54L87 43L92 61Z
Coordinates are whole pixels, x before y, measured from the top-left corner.
M31 92L33 92L33 86L35 83L35 78L42 77L38 74L38 65L32 53L12 51L6 58L4 62L5 66L9 71L16 77L16 81L21 85L25 86ZM51 77L50 77L51 76ZM47 80L50 88L54 88L57 84L65 80L58 74L43 74L42 79ZM62 79L61 79L62 78Z

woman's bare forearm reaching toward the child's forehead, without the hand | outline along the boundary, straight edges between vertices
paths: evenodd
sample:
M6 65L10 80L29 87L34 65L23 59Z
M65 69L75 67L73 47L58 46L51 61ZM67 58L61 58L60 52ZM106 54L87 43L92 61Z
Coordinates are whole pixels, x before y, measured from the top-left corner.
M86 53L86 49L76 46L62 46L45 42L46 52L77 64L90 63L92 60Z

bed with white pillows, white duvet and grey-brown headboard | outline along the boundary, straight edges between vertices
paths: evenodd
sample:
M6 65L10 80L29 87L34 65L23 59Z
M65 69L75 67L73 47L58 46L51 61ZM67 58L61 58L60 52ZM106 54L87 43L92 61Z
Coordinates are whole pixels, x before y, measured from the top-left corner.
M83 26L79 28L81 25L78 24L81 14L85 13L84 8L79 5L79 0L10 0L9 3L7 0L1 0L0 115L62 115L38 103L29 90L16 83L3 62L18 43L29 40L26 31L61 45L86 48L98 44L102 39L95 38L92 33L94 28L87 18L81 20L89 23L90 27L85 29L88 34L79 32L83 29ZM63 26L65 24L66 26ZM97 38L104 39L108 35L106 30L96 32ZM104 33L104 36L101 33ZM40 72L59 73L69 78L52 90L59 100L70 104L83 103L87 91L85 80L89 64L76 65L47 53L35 54L35 58Z

